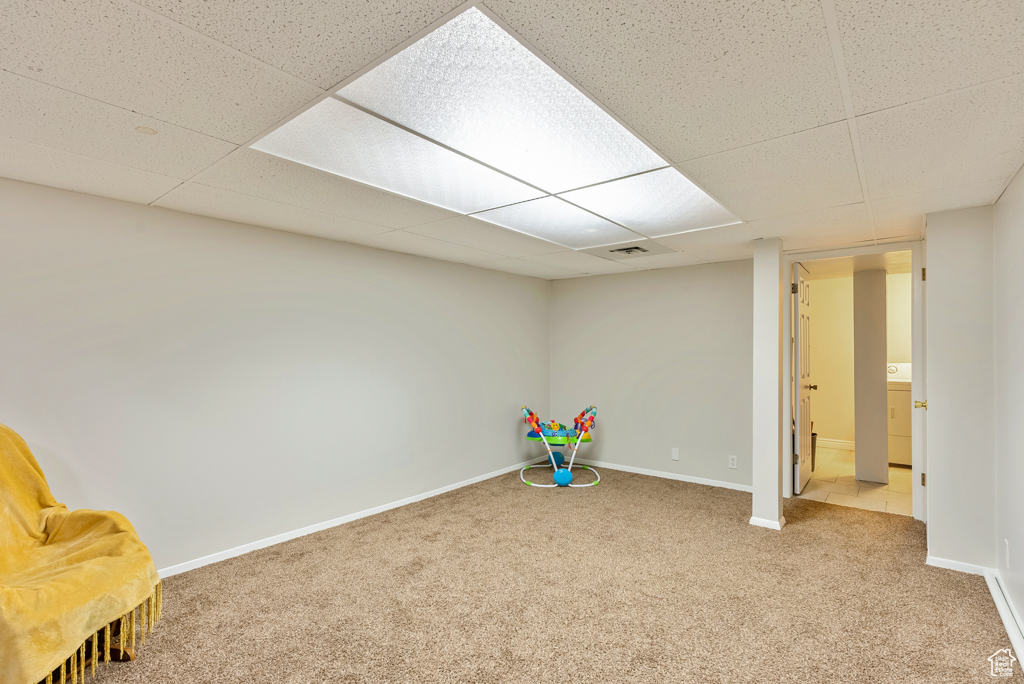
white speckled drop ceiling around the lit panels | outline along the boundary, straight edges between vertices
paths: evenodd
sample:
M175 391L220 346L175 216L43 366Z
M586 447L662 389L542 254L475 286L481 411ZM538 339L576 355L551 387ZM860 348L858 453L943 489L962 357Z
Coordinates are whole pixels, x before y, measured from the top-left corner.
M415 194L416 174L408 187L382 189L370 176L360 182L253 148L328 101L449 144L458 131L443 106L418 105L401 88L452 83L375 68L470 5L20 0L0 23L0 176L560 279L749 258L758 238L780 237L790 252L918 240L926 213L990 204L1024 164L1024 12L1014 3L477 7L642 141L665 172L573 198L566 190L587 185L588 173L604 173L600 160L545 184L497 167L525 189L496 172L502 179L472 193L456 162L444 167L452 182L438 200ZM397 80L390 90L381 85L389 79ZM410 148L391 134L378 148ZM569 126L549 138L570 145L572 135ZM477 155L501 158L486 139L475 143ZM388 161L358 163L379 171ZM692 188L655 175L669 172L740 222L683 232ZM568 244L571 234L523 234L530 222L552 223L529 203L565 204L549 195L562 191L567 207L589 211L558 225L605 230L608 250ZM638 191L660 200L641 203L650 211L631 224ZM495 213L467 216L496 201L502 209L482 210ZM634 244L650 249L610 252Z

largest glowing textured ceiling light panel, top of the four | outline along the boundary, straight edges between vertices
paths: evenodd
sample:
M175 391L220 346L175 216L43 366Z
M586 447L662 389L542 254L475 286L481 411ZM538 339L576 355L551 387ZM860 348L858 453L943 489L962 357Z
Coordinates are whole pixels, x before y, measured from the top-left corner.
M666 165L475 7L338 94L549 193Z

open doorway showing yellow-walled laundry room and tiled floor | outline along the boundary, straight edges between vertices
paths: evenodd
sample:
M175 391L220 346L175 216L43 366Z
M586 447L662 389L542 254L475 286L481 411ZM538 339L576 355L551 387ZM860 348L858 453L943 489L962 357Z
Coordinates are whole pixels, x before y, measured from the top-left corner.
M787 258L783 495L924 519L924 417L912 409L924 398L913 383L924 377L923 250L876 249Z

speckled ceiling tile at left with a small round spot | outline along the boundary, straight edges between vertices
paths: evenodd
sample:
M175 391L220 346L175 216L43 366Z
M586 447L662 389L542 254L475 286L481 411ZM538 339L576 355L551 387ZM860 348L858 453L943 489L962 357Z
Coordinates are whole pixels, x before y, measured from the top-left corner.
M175 178L191 177L236 147L3 71L0 120L10 137Z

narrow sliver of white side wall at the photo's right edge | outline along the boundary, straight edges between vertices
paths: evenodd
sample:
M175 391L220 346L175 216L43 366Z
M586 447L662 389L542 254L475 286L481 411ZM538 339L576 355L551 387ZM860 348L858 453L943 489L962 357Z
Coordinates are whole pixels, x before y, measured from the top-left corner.
M1017 174L995 204L993 228L995 564L1020 611L1024 609L1024 281L1020 274L1024 260L1024 174Z

